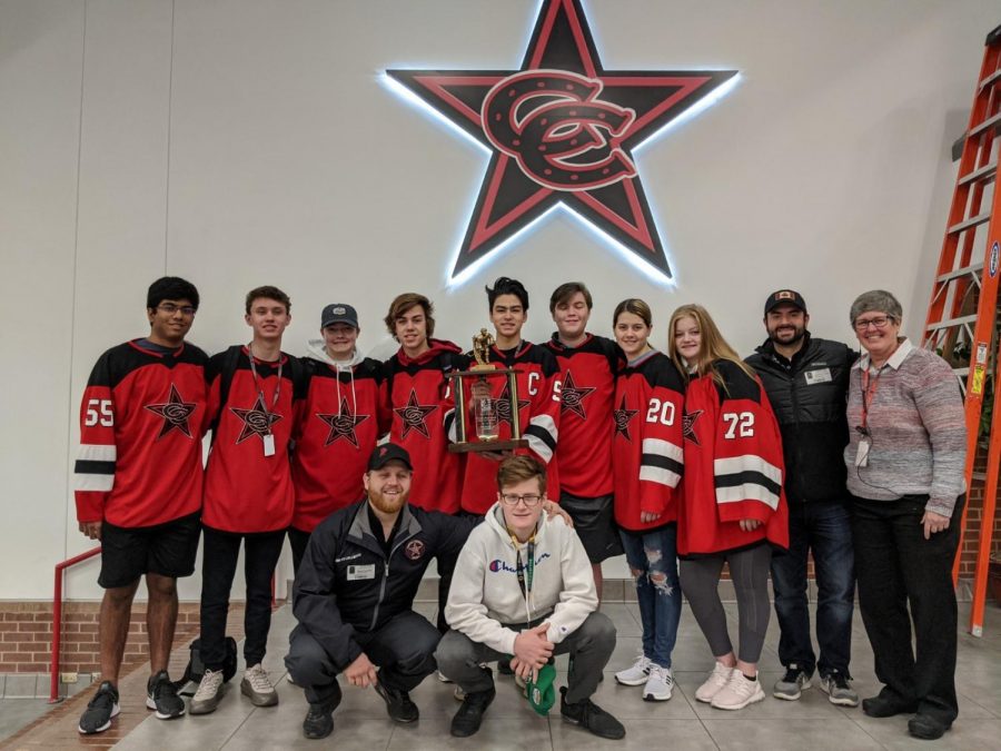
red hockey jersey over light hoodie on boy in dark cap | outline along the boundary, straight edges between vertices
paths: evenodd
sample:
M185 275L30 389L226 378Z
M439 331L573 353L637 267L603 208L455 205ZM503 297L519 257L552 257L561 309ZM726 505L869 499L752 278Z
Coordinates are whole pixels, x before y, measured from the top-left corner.
M330 513L365 496L361 475L383 429L379 385L383 364L365 358L338 369L306 358L306 386L295 433L291 525L313 532Z

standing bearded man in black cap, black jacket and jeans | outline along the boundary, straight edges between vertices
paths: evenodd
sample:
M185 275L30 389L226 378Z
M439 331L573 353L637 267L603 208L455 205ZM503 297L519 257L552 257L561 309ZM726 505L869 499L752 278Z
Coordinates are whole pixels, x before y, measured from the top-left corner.
M848 444L845 397L858 355L839 342L810 336L802 295L780 289L765 300L769 338L747 364L761 376L779 418L789 500L789 552L772 559L779 659L785 675L772 691L796 700L814 670L833 704L855 706L851 686L854 556L842 452ZM816 640L810 640L806 556L813 552L817 585Z

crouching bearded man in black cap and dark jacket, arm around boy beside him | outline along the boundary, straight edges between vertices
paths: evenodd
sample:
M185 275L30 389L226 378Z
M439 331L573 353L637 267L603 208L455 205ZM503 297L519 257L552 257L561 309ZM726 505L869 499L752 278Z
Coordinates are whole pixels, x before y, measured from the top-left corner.
M328 516L306 546L293 600L299 625L285 659L309 702L306 738L334 730L338 673L373 686L396 722L419 717L409 692L434 672L440 633L413 611L414 597L432 559L457 556L480 520L407 504L412 473L405 448L376 446L364 476L368 497ZM569 522L555 504L543 508Z

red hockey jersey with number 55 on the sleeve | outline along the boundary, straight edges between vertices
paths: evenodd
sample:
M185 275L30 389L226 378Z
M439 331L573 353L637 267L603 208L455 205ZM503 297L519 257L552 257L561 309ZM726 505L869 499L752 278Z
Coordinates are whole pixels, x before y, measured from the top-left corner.
M126 342L100 356L80 404L77 520L141 527L201 506L206 354Z

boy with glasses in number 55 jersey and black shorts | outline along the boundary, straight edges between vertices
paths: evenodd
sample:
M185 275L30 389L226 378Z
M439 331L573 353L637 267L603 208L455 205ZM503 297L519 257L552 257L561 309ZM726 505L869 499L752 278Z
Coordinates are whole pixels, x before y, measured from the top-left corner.
M163 277L146 298L149 336L98 359L80 407L76 466L80 532L101 541L101 684L81 733L111 727L132 597L146 575L151 675L147 706L161 720L185 713L167 674L177 623L177 577L195 571L201 506L207 356L186 344L198 310L190 281Z

